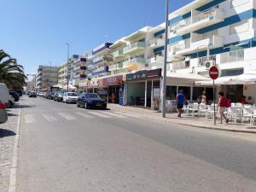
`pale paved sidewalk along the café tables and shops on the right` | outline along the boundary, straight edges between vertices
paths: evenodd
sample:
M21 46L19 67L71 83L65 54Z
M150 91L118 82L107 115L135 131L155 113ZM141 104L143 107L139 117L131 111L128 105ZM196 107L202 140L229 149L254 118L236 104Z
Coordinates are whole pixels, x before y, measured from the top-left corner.
M177 113L166 113L166 119L161 117L161 113L157 113L150 109L145 108L134 108L134 107L123 107L116 104L108 104L108 108L122 112L122 113L133 113L143 115L145 117L160 119L170 123L176 123L179 125L189 125L198 128L212 129L218 131L236 131L236 132L247 132L256 134L256 125L251 126L249 123L234 123L213 125L213 119L205 119L204 117L192 117L183 116L183 118L177 118Z

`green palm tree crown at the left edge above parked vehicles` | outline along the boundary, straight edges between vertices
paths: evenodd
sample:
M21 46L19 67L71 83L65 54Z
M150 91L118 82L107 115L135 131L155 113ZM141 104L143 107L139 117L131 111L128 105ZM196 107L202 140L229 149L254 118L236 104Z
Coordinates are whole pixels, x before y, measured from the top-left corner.
M23 67L3 49L0 49L0 83L6 84L10 89L20 89L26 84Z

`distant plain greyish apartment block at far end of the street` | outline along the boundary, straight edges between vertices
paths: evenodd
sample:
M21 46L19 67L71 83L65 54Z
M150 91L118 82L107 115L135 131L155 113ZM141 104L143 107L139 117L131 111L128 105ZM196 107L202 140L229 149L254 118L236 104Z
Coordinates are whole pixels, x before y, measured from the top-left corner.
M58 67L39 66L37 74L37 90L49 90L58 83Z

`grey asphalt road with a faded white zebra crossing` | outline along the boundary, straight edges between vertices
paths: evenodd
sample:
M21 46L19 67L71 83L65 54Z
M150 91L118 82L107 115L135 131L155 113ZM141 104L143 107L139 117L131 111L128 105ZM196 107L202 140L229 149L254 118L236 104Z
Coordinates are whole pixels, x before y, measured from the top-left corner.
M256 192L256 137L22 102L17 192Z

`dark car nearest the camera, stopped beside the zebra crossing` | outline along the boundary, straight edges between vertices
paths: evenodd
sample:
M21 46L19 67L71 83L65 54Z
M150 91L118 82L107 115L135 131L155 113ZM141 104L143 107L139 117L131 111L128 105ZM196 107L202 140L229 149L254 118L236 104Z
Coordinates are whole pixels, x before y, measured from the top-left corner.
M107 108L107 102L96 93L82 93L79 96L77 106L84 108Z

